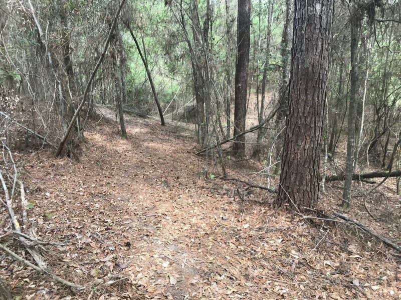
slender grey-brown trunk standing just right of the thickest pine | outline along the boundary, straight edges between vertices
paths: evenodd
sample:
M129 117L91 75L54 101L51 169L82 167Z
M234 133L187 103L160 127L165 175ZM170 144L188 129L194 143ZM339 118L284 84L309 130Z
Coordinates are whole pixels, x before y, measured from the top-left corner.
M354 170L355 154L355 117L356 101L358 93L358 41L361 16L357 9L351 16L351 86L348 105L348 138L347 138L347 160L345 168L345 182L342 194L342 207L350 206L352 174Z

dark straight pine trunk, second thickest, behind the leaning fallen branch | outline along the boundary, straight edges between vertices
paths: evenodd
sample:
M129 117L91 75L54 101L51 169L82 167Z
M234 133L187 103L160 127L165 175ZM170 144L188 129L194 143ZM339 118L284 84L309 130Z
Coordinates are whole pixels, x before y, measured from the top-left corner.
M237 60L235 66L234 136L245 131L250 47L251 0L238 0ZM245 135L234 140L234 153L245 156Z

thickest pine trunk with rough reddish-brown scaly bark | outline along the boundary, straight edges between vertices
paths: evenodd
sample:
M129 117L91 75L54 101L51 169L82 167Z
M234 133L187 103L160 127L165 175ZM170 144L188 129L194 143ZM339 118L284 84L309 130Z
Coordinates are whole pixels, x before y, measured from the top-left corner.
M333 0L295 0L289 111L276 206L304 210L319 192ZM294 207L295 206L295 207Z

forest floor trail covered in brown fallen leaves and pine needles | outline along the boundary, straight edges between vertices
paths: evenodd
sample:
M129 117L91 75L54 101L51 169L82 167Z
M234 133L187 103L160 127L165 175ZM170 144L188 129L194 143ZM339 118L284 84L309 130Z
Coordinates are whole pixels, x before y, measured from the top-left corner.
M274 210L273 194L219 179L212 167L206 174L192 131L133 116L126 125L125 140L110 119L89 125L79 161L50 149L15 153L36 234L67 242L46 246L46 261L87 288L74 293L0 252L14 299L401 298L392 249L340 222ZM261 166L226 163L242 179ZM336 184L326 187L329 203ZM399 206L395 212L399 222ZM0 217L7 220L5 209ZM29 259L9 237L0 242ZM89 283L109 274L123 278Z

